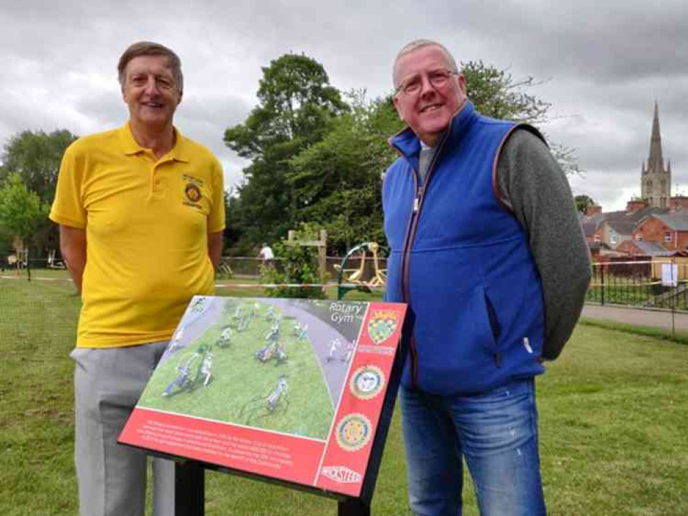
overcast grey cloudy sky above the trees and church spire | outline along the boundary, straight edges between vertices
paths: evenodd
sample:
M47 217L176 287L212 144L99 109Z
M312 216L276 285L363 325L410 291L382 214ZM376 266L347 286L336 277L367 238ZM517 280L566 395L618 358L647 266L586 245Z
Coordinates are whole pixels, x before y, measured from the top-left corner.
M175 123L210 147L227 185L246 162L222 142L256 105L261 67L286 52L315 58L333 86L382 96L400 47L420 37L457 61L481 59L514 77L546 79L543 127L574 147L571 178L605 211L640 195L654 101L672 192L688 195L686 0L74 1L0 0L0 144L25 129L77 135L123 124L116 79L134 41L163 43L182 59L184 100Z

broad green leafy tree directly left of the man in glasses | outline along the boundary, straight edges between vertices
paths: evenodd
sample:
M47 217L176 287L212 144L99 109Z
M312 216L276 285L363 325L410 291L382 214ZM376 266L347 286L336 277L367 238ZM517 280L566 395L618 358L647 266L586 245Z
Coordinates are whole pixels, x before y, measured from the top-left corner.
M324 139L291 160L288 175L299 222L320 224L328 245L344 255L363 241L386 244L382 230L382 173L396 153L386 138L403 127L391 97L348 94L351 110Z

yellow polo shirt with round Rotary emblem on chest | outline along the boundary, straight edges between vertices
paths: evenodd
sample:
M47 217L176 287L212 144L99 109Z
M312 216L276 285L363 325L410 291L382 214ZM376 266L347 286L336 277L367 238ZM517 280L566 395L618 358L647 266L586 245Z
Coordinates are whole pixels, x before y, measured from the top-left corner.
M76 345L164 341L189 299L213 292L207 234L225 228L222 167L179 131L156 160L127 123L67 148L50 219L86 230Z

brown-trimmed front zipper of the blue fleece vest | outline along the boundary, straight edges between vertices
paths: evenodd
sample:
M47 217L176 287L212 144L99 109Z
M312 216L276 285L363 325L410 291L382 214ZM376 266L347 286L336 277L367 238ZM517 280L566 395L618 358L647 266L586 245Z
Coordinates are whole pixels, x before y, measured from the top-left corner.
M413 197L413 206L411 206L411 215L408 217L408 226L406 226L406 236L404 240L404 250L402 252L402 296L404 302L408 305L411 304L411 290L410 290L410 259L411 259L411 246L413 246L413 240L416 236L416 231L418 230L418 221L420 219L421 208L423 208L423 200L425 198L425 193L430 184L430 178L432 178L432 171L435 169L435 163L442 152L444 147L444 142L448 138L449 131L444 133L439 145L437 146L437 152L432 156L432 161L428 165L428 172L425 176L425 181L423 186L418 187L418 171L413 168L413 165L406 160L404 153L399 152L404 160L408 163L409 168L413 171L413 190L415 191L415 196ZM398 150L398 149L397 149ZM413 387L418 386L418 352L416 350L415 336L411 334L408 342L408 348L411 353L411 385Z

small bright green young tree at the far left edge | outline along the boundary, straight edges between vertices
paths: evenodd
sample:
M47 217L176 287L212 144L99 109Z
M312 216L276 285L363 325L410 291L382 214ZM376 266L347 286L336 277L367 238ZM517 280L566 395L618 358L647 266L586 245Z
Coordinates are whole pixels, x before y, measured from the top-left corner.
M10 173L0 189L0 226L23 248L48 216L49 205L30 191L17 173Z

